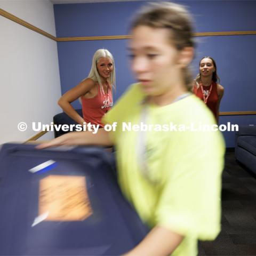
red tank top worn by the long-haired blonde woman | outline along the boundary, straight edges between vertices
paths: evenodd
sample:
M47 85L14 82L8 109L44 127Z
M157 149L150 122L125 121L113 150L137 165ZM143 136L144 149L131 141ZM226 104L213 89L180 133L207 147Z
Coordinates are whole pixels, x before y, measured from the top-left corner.
M86 123L95 125L99 124L101 127L103 127L104 125L101 123L101 118L113 106L113 95L108 83L107 93L104 93L100 89L100 85L98 83L96 83L96 85L98 87L98 94L94 98L86 99L81 97L82 112L84 121Z

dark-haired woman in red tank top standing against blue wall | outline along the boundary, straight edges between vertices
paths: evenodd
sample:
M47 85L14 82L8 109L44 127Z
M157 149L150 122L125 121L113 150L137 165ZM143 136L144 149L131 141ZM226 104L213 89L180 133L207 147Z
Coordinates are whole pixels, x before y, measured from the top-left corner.
M203 57L199 62L199 74L194 82L193 92L211 109L217 123L220 101L224 93L219 81L216 62L211 57Z

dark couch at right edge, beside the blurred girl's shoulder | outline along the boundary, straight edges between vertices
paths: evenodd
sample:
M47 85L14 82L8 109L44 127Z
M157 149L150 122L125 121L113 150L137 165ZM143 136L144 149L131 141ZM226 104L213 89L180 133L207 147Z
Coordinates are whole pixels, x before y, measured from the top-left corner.
M236 159L256 174L256 125L239 126L236 132Z

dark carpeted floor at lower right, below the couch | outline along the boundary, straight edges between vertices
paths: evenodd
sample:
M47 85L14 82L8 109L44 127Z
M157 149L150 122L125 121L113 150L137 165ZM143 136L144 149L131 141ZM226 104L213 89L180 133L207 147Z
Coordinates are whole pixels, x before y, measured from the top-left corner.
M256 255L256 178L226 153L222 179L222 230L199 242L199 255Z

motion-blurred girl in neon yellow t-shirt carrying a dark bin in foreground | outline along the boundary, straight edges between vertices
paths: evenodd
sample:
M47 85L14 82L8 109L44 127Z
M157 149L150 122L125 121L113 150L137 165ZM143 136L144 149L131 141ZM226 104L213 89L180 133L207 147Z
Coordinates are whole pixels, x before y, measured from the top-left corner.
M220 132L189 129L215 123L188 92L194 55L189 14L181 5L151 4L135 18L131 34L131 67L139 83L103 117L105 124L117 122L116 131L69 133L39 148L115 145L119 185L151 227L125 255L196 255L197 239L214 239L220 231L224 146ZM177 130L123 130L123 123L141 122L158 128L172 123Z

